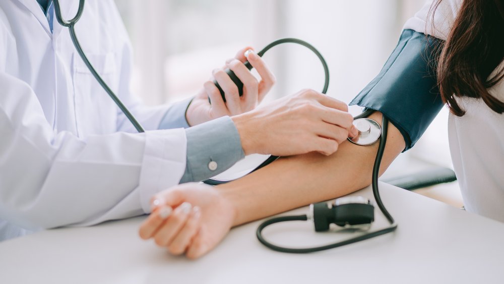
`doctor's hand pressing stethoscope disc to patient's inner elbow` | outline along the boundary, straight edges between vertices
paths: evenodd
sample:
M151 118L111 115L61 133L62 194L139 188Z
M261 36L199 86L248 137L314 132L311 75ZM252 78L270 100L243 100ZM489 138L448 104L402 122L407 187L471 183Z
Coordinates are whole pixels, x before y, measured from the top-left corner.
M313 90L299 91L231 119L245 155L331 155L347 137L358 134L344 102Z

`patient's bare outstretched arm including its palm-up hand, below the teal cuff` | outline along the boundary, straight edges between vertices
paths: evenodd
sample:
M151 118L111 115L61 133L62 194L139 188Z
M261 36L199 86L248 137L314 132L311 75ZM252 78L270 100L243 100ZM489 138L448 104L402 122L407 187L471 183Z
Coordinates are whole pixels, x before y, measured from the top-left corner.
M382 121L380 113L370 118ZM172 254L200 257L213 249L231 226L369 185L377 147L378 143L357 146L346 141L331 156L312 153L281 158L219 187L195 183L173 187L155 196L155 207L142 224L140 236L154 238ZM404 147L403 136L389 124L381 172Z

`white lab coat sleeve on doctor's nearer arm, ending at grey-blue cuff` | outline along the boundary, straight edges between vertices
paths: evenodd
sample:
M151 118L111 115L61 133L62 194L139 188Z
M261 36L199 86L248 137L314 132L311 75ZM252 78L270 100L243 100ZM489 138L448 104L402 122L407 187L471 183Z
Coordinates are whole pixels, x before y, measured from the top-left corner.
M183 129L55 133L29 85L0 72L0 86L0 219L36 230L135 216L182 177Z

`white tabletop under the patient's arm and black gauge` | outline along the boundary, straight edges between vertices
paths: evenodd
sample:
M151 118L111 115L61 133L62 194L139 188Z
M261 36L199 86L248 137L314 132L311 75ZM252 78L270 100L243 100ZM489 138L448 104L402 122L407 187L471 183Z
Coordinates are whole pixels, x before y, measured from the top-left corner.
M172 257L137 237L145 217L40 232L0 243L0 283L503 283L504 224L381 183L393 234L325 252L271 251L258 222L235 228L207 256ZM356 194L372 196L369 188ZM294 210L300 213L306 208ZM387 225L376 208L372 229ZM346 238L307 222L265 230L275 243Z

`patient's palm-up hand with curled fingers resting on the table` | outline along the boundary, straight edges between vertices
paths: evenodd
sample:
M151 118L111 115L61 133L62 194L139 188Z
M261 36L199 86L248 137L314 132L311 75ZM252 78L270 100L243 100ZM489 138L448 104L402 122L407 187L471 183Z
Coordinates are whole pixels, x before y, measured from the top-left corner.
M153 211L140 226L140 237L153 238L171 254L198 258L229 232L235 209L214 187L188 183L158 193Z

